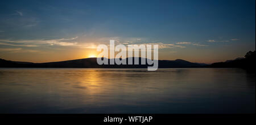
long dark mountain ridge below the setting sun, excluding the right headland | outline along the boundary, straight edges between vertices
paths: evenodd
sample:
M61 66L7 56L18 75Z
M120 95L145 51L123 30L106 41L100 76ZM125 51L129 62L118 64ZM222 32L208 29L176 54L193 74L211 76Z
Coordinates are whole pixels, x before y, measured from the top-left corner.
M97 63L97 58L84 58L84 59L75 59L70 61L60 61L60 62L47 62L47 63L31 63L31 62L15 62L15 61L6 61L5 59L0 59L0 67L17 67L17 68L147 68L148 64L141 64L141 59L139 59L139 64L129 65L99 65ZM108 59L110 62L110 59ZM126 63L128 63L128 58L126 58ZM182 59L176 59L175 61L168 60L159 60L158 68L189 68L189 67L203 67L206 64L201 63L192 63L184 61Z

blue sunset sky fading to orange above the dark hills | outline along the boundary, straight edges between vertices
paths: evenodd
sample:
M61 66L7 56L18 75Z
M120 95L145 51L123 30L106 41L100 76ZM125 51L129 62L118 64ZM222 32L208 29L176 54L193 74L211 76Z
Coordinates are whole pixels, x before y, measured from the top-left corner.
M158 44L159 59L213 63L255 50L255 0L1 1L0 58L52 62L99 44Z

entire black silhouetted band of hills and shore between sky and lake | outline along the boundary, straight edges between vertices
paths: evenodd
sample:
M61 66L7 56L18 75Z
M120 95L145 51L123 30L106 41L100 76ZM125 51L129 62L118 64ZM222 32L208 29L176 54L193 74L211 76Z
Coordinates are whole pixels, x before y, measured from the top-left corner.
M138 58L138 57L136 57ZM110 59L108 59L110 62ZM126 58L126 63L128 59ZM16 67L16 68L147 68L148 64L141 64L141 58L139 58L139 64L132 65L99 65L97 63L97 58L84 58L75 59L70 61L60 61L60 62L48 62L48 63L31 63L31 62L16 62L7 61L5 59L0 59L0 67ZM158 68L246 68L254 70L255 68L255 51L249 51L246 53L245 58L236 58L234 60L228 60L226 62L217 62L213 64L204 63L192 63L184 61L182 59L176 59L174 61L169 60L159 60Z

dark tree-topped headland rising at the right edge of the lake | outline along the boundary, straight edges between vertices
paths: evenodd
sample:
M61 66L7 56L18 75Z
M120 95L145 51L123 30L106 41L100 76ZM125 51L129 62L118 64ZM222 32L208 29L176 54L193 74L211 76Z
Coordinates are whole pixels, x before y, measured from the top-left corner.
M207 67L213 68L247 68L254 70L255 68L255 50L246 53L245 58L237 58L234 60L228 60L226 62L217 62L210 64Z

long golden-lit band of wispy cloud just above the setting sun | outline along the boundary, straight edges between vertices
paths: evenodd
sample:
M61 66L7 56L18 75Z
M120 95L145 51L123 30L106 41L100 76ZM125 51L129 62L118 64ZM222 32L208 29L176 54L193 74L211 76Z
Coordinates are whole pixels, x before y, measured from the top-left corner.
M109 40L115 40L115 44L124 44L124 45L158 45L159 49L174 49L174 48L187 48L184 45L194 45L194 46L209 46L193 42L176 42L176 44L166 44L163 42L134 42L130 40L121 40L118 37L112 38L97 38L97 39L81 39L76 37L71 38L58 38L51 40L0 40L0 45L8 46L23 46L23 47L47 47L55 46L55 49L59 48L58 46L72 47L77 49L96 49L97 45L106 44L109 45ZM136 38L135 40L137 40Z

